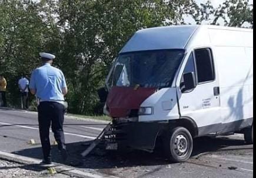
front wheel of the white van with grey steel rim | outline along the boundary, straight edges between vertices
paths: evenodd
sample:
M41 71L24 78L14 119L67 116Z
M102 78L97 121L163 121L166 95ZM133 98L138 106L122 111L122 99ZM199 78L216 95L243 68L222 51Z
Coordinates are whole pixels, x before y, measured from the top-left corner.
M165 155L172 162L185 162L193 149L193 139L185 127L175 127L164 142Z

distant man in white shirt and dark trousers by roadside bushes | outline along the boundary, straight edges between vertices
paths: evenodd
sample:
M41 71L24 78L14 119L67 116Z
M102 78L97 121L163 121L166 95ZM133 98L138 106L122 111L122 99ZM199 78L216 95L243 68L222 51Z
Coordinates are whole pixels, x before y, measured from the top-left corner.
M19 79L19 90L21 90L21 106L22 109L28 109L28 85L29 81L24 75Z

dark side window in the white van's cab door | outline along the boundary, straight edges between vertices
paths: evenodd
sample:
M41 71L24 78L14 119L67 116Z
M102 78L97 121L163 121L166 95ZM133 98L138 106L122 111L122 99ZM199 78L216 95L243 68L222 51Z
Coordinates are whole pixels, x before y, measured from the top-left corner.
M195 50L198 83L210 82L215 79L214 63L210 48Z

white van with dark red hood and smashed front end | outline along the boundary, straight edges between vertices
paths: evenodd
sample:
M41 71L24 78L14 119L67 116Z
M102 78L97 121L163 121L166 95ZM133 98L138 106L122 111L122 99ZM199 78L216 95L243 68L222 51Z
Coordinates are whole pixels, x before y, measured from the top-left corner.
M152 151L157 138L174 162L193 138L244 133L253 143L253 31L208 25L135 33L107 78L108 149Z

